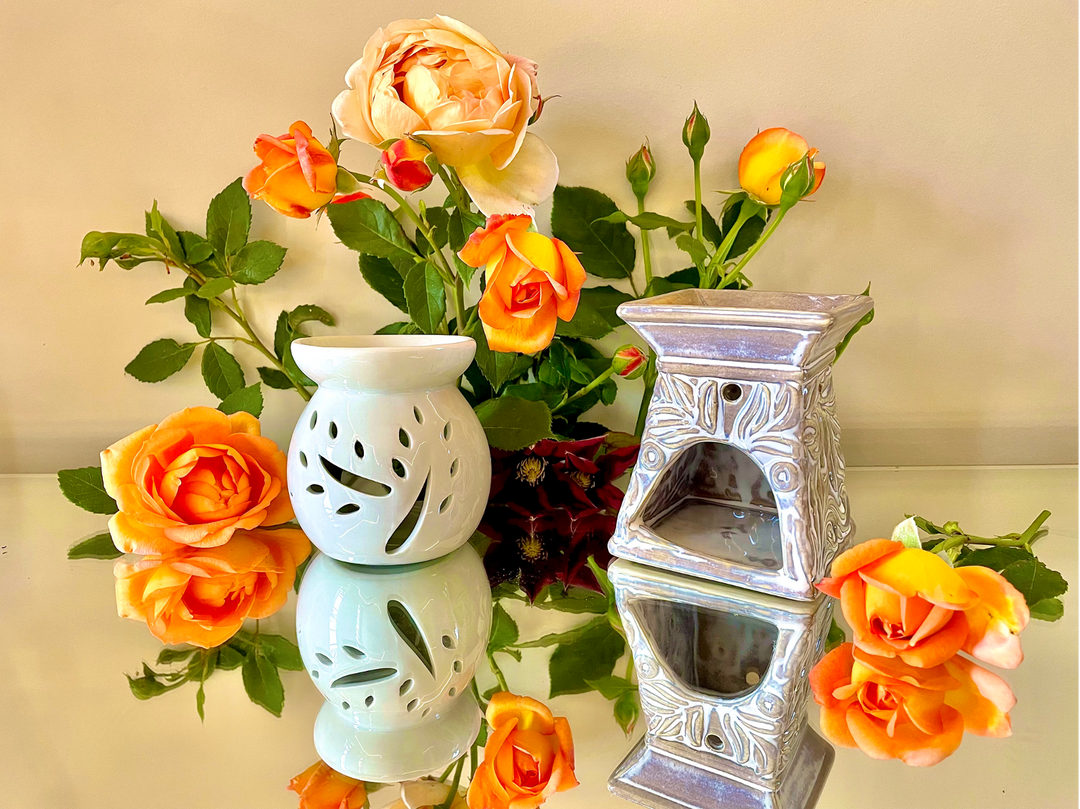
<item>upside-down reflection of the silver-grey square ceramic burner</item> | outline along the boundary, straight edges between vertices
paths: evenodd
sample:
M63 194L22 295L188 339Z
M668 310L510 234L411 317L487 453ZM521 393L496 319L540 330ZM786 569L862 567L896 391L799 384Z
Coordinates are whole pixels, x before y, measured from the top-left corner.
M833 749L807 727L807 674L832 605L623 559L608 574L648 722L611 791L660 809L812 807Z

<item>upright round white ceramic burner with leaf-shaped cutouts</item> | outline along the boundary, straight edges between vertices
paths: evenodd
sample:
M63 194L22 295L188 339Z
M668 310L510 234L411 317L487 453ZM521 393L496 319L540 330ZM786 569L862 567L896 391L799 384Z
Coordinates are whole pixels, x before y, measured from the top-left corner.
M311 541L341 562L406 565L472 536L487 502L487 440L457 389L468 337L312 337L319 383L293 433L288 494Z

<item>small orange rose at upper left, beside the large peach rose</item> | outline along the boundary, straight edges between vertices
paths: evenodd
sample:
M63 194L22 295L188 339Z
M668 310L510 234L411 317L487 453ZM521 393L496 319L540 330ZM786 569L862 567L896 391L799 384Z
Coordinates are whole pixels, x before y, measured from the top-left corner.
M285 216L307 219L334 199L337 162L311 127L297 121L281 137L259 135L255 153L262 161L244 177L244 190Z

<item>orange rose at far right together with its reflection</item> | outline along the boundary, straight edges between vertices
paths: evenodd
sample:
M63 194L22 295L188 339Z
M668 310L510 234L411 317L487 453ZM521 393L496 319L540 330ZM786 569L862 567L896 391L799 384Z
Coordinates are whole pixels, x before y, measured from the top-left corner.
M825 738L926 767L964 731L1012 732L1009 685L960 653L1003 669L1024 659L1028 608L1004 577L888 539L840 554L832 574L818 588L840 599L853 643L810 672Z

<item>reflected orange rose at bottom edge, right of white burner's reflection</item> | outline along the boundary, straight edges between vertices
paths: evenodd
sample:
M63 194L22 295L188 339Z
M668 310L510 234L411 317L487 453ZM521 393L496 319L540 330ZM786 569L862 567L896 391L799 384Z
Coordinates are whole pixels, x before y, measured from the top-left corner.
M535 809L578 785L570 726L546 705L502 691L487 705L487 724L491 734L469 784L469 809Z

